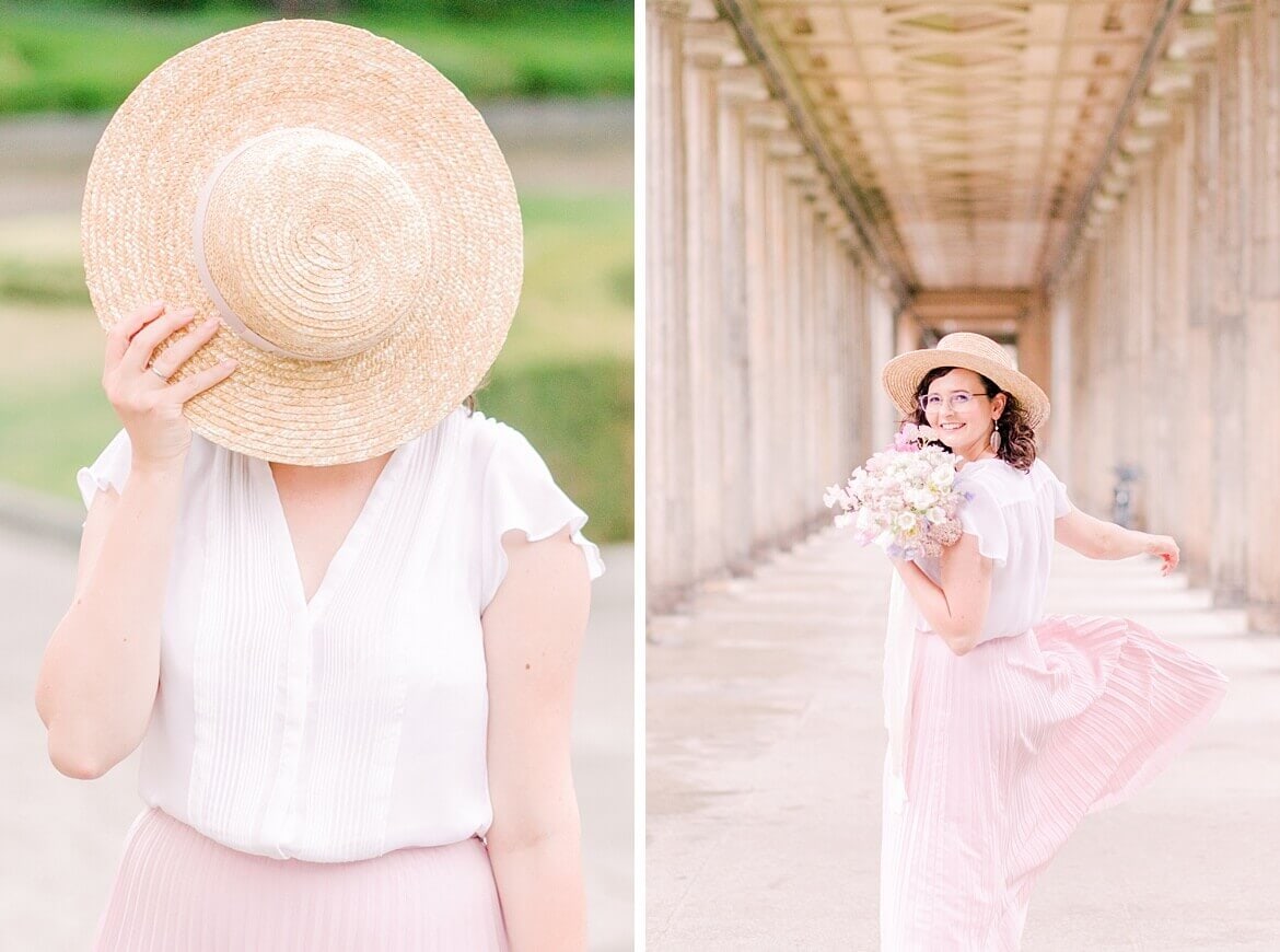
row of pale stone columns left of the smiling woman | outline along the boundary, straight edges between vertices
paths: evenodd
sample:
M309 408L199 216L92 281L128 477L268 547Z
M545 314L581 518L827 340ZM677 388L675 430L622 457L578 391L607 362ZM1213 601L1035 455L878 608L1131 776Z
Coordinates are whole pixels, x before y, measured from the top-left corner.
M829 516L823 488L884 435L893 302L732 27L709 3L646 18L646 573L666 612Z

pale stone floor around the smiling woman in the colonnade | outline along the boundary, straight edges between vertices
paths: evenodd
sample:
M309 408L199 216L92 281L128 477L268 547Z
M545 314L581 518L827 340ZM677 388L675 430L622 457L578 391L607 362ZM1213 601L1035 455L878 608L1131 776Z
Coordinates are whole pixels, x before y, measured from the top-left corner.
M1280 637L1155 562L1055 555L1048 610L1125 614L1233 679L1130 802L1088 818L1032 900L1028 952L1280 948ZM650 952L878 947L890 567L824 530L650 624Z

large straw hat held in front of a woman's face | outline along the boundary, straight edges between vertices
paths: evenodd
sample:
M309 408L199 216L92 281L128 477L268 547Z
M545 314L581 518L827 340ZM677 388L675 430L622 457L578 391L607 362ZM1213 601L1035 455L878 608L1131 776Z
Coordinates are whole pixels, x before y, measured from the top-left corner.
M385 453L476 388L520 297L511 171L476 109L364 29L275 20L152 72L93 152L82 246L110 329L147 301L221 313L174 380L196 432L324 466Z

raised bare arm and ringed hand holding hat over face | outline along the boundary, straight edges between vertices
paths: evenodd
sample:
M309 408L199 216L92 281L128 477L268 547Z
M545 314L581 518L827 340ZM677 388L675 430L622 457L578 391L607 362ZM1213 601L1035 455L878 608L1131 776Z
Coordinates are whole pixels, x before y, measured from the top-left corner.
M101 777L141 743L160 679L160 615L173 555L191 427L186 401L224 380L220 363L175 383L148 370L155 348L193 311L157 302L108 335L102 386L129 434L123 491L92 499L81 539L76 595L49 639L36 679L36 711L49 758L77 779ZM161 357L170 376L212 337L216 322L177 339Z

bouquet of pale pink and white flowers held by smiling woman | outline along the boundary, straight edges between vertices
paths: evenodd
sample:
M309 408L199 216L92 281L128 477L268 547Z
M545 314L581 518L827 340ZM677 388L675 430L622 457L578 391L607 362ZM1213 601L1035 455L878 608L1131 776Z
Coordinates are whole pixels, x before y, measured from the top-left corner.
M937 557L960 540L956 458L928 426L906 424L893 445L854 470L849 482L828 486L823 502L840 505L837 526L852 525L861 545L874 543L892 558Z

